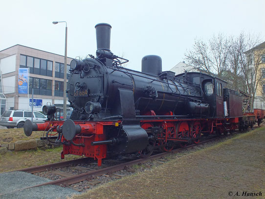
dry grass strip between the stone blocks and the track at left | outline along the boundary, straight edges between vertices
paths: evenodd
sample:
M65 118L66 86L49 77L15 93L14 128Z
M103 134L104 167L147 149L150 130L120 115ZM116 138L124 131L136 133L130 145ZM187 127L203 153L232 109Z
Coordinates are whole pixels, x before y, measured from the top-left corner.
M57 147L47 150L13 151L0 155L0 172L80 158L78 155L65 155L65 159L61 160L62 150L63 147Z

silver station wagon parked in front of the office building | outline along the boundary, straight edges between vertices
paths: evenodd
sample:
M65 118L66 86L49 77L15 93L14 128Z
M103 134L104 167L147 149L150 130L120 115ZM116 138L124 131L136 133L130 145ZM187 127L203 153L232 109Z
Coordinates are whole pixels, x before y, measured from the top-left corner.
M31 120L31 111L8 110L0 118L0 125L9 128L22 128L26 119ZM33 111L33 123L43 123L46 116L38 111Z

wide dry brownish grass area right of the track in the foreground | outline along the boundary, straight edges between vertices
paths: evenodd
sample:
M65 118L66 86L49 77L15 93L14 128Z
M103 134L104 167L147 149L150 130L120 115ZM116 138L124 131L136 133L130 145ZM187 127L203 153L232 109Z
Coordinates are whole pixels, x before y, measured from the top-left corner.
M229 191L240 195L243 191L261 191L260 198L264 198L264 127L104 184L74 199L234 198L228 196Z

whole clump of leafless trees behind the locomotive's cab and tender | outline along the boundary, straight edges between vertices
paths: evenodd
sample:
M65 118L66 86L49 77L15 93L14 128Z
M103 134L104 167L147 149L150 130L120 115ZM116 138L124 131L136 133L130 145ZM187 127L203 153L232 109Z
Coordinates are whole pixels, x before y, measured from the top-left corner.
M247 104L253 111L257 90L263 93L262 64L265 43L255 35L241 33L238 37L213 36L207 43L195 40L193 49L185 53L188 65L227 81L228 87L250 94ZM264 62L263 62L264 61ZM265 67L265 64L264 64Z

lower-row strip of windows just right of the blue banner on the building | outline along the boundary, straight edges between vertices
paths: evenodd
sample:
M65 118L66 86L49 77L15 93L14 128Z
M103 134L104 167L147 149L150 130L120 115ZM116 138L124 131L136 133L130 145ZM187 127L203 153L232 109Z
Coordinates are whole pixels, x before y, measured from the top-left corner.
M28 81L29 94L32 94L32 88L34 90L33 94L36 95L49 95L51 96L52 81L46 79L40 79L36 77L29 77Z

